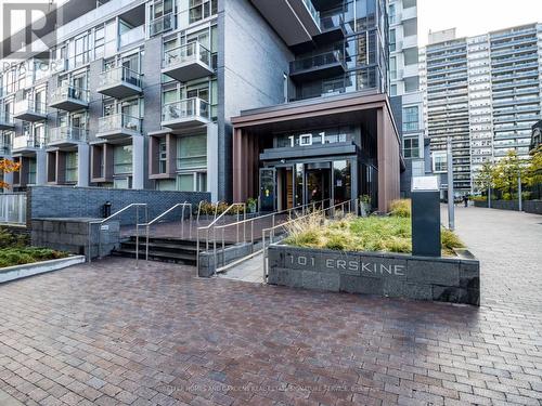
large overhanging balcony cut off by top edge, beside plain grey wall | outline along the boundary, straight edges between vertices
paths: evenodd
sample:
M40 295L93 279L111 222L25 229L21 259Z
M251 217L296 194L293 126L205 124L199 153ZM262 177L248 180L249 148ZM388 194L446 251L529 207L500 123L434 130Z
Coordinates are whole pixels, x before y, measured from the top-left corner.
M288 47L322 34L320 13L310 0L251 0L269 25Z

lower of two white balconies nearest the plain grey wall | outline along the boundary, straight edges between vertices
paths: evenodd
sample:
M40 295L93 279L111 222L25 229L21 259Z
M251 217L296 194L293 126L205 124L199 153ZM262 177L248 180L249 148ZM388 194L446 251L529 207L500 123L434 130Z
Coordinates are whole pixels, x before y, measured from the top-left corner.
M210 122L209 104L198 97L169 103L162 110L162 126L172 130L203 127Z

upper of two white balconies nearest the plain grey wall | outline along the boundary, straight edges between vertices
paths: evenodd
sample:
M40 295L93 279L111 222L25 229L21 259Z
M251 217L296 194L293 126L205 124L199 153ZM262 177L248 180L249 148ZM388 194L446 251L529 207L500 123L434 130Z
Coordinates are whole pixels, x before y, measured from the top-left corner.
M162 73L180 82L212 75L210 51L199 42L167 51Z

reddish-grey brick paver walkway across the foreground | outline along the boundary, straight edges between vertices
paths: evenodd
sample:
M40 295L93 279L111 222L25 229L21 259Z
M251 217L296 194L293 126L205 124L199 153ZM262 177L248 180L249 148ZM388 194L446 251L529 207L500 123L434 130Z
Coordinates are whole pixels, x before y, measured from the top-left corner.
M2 285L0 390L28 405L540 406L542 217L457 218L483 261L480 309L124 259Z

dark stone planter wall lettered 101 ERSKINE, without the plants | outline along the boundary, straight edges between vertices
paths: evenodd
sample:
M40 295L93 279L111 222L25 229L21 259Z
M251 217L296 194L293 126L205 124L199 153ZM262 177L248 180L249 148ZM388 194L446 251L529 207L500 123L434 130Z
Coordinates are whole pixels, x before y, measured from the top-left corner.
M460 258L269 247L271 285L480 304L480 264Z

